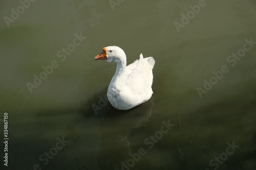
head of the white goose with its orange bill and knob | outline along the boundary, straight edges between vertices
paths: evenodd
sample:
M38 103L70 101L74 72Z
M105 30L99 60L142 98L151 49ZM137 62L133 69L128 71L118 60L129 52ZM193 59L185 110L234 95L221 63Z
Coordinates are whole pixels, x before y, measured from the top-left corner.
M108 62L126 61L126 56L122 48L118 46L107 46L102 48L102 53L97 55L95 60L106 60Z

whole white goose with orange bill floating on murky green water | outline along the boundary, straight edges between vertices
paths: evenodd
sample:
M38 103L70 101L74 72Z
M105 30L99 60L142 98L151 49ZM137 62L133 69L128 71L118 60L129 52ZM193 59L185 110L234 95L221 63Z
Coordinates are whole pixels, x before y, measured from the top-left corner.
M126 66L126 55L118 46L102 48L102 53L95 60L116 62L116 72L108 89L108 99L113 107L128 110L148 101L152 94L153 73L155 65L153 57L140 59Z

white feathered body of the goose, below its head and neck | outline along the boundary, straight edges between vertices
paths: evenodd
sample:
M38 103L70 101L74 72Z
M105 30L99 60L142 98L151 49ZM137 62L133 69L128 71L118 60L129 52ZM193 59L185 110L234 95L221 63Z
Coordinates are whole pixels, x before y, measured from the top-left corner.
M153 57L143 58L126 66L123 74L114 76L108 89L108 99L119 110L131 109L148 101L152 94Z

